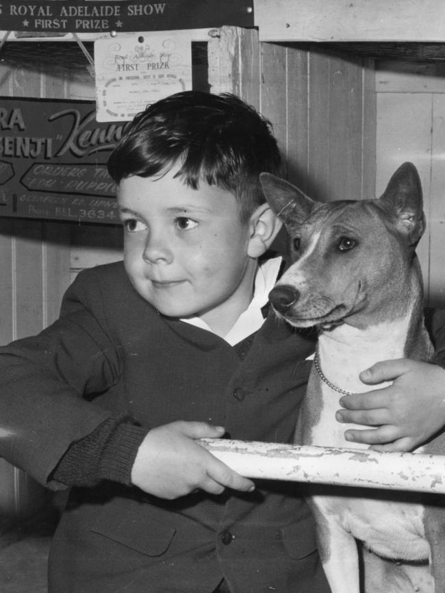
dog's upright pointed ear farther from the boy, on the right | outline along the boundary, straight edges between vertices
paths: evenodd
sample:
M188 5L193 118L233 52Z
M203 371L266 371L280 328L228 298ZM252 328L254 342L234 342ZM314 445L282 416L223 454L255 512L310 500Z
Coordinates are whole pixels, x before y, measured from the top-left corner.
M398 231L416 246L425 230L422 184L414 164L406 162L392 175L379 198L386 212L390 212Z

